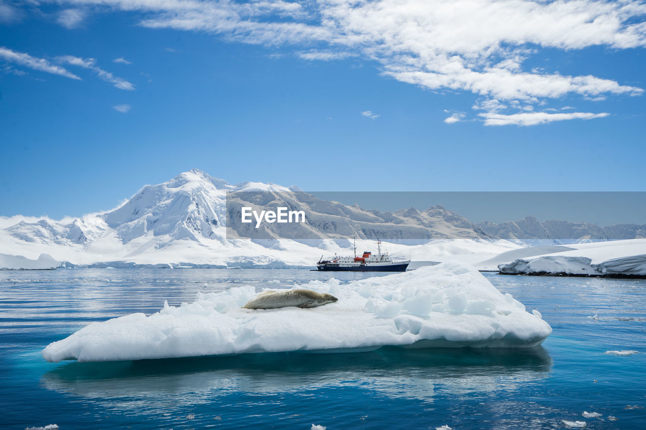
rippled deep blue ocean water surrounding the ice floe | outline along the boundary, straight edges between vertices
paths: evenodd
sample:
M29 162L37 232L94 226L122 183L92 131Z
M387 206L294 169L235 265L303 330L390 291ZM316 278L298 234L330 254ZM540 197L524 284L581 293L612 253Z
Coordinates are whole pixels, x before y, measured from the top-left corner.
M193 302L198 291L367 276L375 274L0 272L0 429L559 429L576 421L589 429L646 427L646 280L485 274L552 325L534 349L112 363L48 363L40 354L90 322L151 314L164 300ZM638 353L605 354L629 350Z

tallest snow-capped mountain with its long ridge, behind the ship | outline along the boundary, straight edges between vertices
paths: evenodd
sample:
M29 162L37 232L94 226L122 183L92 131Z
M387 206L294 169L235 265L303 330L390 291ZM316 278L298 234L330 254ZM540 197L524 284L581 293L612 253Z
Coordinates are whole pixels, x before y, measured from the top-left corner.
M286 225L264 224L270 241L244 240L237 214L229 214L231 201L258 209L276 205L304 210L307 222L290 231ZM227 227L229 227L227 234ZM290 226L287 226L290 227ZM380 238L404 252L405 245L433 240L482 242L492 252L510 249L459 214L435 206L397 212L364 210L324 201L298 187L244 182L231 185L201 170L183 172L170 181L147 185L123 205L109 212L65 221L19 221L0 230L0 252L37 258L47 253L74 265L311 265L322 252L348 253L350 236L359 246L373 248ZM363 242L368 242L364 243ZM444 252L444 251L443 251ZM120 263L115 263L119 261ZM99 264L100 265L100 264Z

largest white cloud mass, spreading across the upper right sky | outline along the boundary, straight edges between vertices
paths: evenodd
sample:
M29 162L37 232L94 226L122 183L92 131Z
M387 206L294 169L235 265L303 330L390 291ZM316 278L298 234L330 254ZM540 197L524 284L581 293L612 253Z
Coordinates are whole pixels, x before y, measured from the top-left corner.
M472 92L545 105L567 96L639 95L612 79L525 70L541 48L646 46L646 3L603 0L62 0L145 14L140 25L218 34L232 41L295 46L304 59L360 56L393 79L431 90ZM311 49L317 46L317 49ZM309 49L309 50L308 50ZM585 67L581 64L580 67ZM550 64L550 69L554 66ZM516 102L516 103L513 103ZM479 103L476 103L479 105ZM526 105L526 103L524 103Z

